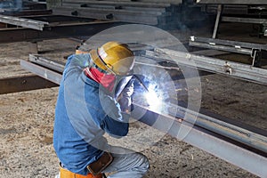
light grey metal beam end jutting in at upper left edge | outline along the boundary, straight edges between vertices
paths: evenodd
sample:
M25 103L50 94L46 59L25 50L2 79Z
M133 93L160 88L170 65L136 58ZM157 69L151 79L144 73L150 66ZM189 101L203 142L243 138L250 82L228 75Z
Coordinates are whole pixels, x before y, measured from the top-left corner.
M28 20L20 17L12 17L6 15L0 15L0 22L8 23L24 28L33 28L37 30L43 30L44 25L48 25L46 21Z

